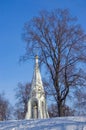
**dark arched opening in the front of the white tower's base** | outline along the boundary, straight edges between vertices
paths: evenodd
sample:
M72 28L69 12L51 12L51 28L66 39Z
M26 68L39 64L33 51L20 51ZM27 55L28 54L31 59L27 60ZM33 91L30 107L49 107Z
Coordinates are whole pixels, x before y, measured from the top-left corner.
M38 118L38 102L32 101L32 118Z

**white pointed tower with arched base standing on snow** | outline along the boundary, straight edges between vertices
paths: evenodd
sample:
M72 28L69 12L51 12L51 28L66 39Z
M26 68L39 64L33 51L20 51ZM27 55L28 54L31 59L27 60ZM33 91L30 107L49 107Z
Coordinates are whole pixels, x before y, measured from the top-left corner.
M43 119L49 117L45 100L45 92L39 71L38 56L36 56L35 62L35 70L28 100L26 119Z

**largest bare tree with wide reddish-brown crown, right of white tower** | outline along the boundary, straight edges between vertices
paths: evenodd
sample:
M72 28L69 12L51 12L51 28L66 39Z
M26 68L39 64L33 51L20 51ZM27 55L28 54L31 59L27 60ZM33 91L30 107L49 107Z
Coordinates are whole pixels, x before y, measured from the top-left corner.
M70 89L84 86L82 64L86 64L86 34L67 9L42 11L24 26L25 60L38 53L46 66L47 81L54 88L59 116ZM85 74L85 73L84 73Z

